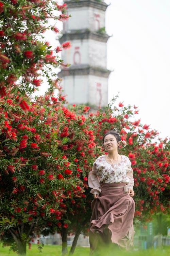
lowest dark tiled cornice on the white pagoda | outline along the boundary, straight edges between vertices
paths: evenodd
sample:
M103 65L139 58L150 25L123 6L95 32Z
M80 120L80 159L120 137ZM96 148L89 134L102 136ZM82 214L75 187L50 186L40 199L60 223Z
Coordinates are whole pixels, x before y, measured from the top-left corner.
M99 77L105 77L108 78L109 74L112 71L108 69L102 69L100 67L92 67L89 65L71 65L69 68L65 70L61 70L58 73L59 77L64 77L64 76L78 76L78 75L95 75Z

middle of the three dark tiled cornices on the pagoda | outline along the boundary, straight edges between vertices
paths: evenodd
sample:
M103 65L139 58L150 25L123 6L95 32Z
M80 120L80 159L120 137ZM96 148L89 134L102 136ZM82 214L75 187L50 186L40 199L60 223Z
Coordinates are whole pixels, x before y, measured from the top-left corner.
M88 29L86 30L71 30L65 32L62 37L59 39L59 42L62 44L69 40L83 40L83 39L93 39L99 42L107 42L109 35L106 33L92 32Z

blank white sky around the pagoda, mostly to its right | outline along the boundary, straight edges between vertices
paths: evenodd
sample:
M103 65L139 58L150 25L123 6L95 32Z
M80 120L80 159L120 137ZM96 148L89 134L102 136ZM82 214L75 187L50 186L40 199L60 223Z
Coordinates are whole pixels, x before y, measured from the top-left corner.
M170 137L170 0L105 2L106 32L113 35L107 42L107 68L114 70L108 100L119 92L120 102L138 106L136 119ZM56 46L55 35L47 40Z

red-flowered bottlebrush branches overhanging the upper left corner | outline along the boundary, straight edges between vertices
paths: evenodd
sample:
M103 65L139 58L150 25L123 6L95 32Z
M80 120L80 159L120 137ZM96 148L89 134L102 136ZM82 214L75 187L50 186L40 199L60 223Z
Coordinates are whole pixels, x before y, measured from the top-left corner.
M55 21L68 18L65 10L66 4L52 0L0 1L0 95L6 96L9 87L12 92L31 94L43 76L46 84L53 85L56 74L52 66L62 64L57 52L70 45L51 49L42 34L48 29L59 32ZM49 19L54 25L47 23Z

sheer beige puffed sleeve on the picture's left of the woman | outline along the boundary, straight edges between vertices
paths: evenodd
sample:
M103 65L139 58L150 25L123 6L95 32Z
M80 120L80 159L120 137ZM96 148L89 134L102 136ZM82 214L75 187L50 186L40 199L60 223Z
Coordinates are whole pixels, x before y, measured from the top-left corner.
M101 193L101 189L99 188L100 183L99 183L98 176L96 174L95 164L93 165L91 172L89 172L88 174L88 185L90 188L92 188L90 191L91 194L99 195Z

